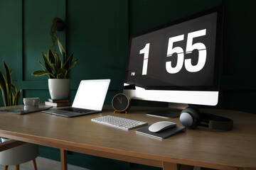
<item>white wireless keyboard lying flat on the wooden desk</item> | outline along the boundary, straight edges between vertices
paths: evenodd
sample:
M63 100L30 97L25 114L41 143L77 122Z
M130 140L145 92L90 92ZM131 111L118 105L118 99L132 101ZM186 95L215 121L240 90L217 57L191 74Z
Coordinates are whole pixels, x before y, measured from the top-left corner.
M95 122L95 123L109 125L114 128L121 128L124 130L130 130L130 129L139 128L141 126L147 125L147 123L142 121L127 119L127 118L119 118L113 115L105 115L100 118L92 118L91 120L92 122Z

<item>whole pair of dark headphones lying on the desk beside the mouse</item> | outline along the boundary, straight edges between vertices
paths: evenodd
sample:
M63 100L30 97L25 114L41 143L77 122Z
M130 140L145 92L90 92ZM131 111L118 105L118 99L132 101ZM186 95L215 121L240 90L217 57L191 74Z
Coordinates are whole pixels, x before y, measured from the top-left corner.
M233 120L230 118L200 113L195 106L188 106L181 111L180 121L183 126L194 129L203 126L212 130L232 130Z

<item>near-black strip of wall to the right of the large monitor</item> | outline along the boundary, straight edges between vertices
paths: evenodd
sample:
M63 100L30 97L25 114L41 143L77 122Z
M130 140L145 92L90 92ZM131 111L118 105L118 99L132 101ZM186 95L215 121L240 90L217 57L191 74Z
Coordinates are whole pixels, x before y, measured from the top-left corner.
M255 113L256 1L225 0L221 108Z

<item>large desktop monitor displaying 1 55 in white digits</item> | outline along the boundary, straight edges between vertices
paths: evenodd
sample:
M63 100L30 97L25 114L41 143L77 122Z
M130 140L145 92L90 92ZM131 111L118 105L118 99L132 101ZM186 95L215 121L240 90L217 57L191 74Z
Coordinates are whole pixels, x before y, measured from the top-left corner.
M132 35L124 83L136 89L124 88L124 94L146 101L217 105L222 30L223 7L218 6Z

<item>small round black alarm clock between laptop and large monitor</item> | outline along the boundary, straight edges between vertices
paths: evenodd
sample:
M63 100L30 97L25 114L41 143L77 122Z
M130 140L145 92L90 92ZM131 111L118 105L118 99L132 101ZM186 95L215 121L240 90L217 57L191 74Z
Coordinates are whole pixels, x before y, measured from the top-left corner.
M112 98L112 107L114 108L114 113L127 113L131 107L131 99L125 94L117 94Z

